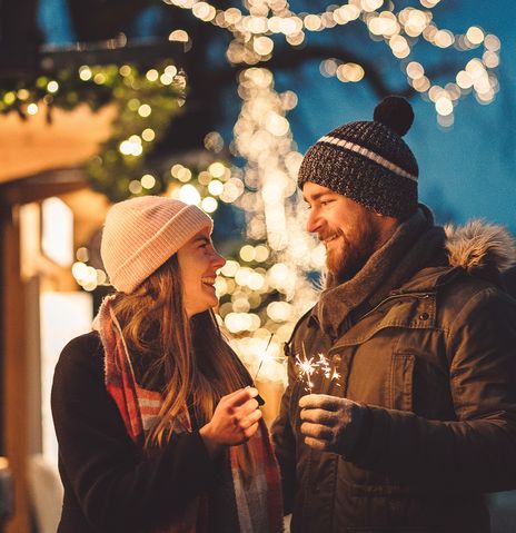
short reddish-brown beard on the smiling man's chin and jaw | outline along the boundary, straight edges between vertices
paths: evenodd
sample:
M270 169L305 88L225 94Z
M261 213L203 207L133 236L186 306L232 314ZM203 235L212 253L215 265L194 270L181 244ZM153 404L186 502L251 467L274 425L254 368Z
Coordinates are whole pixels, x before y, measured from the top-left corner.
M336 231L339 247L327 250L326 266L338 283L355 277L378 249L378 235L374 227L367 225L360 230L360 238L351 241L340 229Z

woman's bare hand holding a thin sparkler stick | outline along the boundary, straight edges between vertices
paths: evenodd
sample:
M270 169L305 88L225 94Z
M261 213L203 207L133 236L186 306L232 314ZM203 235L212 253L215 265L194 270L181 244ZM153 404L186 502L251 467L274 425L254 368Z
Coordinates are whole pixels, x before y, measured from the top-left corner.
M236 446L248 441L258 430L261 411L254 387L239 388L218 403L210 422L199 431L210 455L222 446Z

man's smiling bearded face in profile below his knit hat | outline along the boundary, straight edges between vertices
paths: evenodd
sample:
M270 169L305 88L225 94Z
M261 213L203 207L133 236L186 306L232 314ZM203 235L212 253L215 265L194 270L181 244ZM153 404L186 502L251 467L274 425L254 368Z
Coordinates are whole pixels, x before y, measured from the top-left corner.
M326 246L326 266L338 282L354 277L381 245L379 217L338 193L307 181L307 230Z

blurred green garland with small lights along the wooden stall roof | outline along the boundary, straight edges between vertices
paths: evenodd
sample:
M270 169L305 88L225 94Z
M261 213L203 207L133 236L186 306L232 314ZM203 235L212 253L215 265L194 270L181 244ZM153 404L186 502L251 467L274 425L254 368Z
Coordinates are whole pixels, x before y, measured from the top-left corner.
M87 161L86 171L95 190L119 201L133 195L159 194L166 187L159 176L150 188L140 179L150 171L148 156L153 146L185 102L185 75L172 65L146 73L129 65L82 66L78 70L7 80L0 89L0 112L16 111L30 120L44 103L51 122L53 108L72 110L87 103L96 111L115 102L118 112L111 137Z

